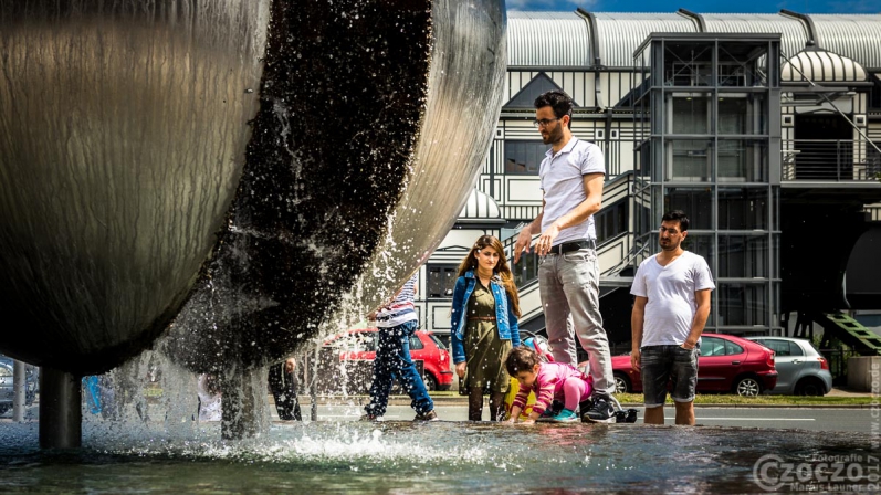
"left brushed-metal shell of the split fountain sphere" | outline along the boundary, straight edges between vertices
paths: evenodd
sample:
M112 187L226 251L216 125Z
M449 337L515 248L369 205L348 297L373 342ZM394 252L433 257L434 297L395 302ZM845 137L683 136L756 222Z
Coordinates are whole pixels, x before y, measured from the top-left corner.
M139 351L223 228L269 0L0 1L0 351Z

